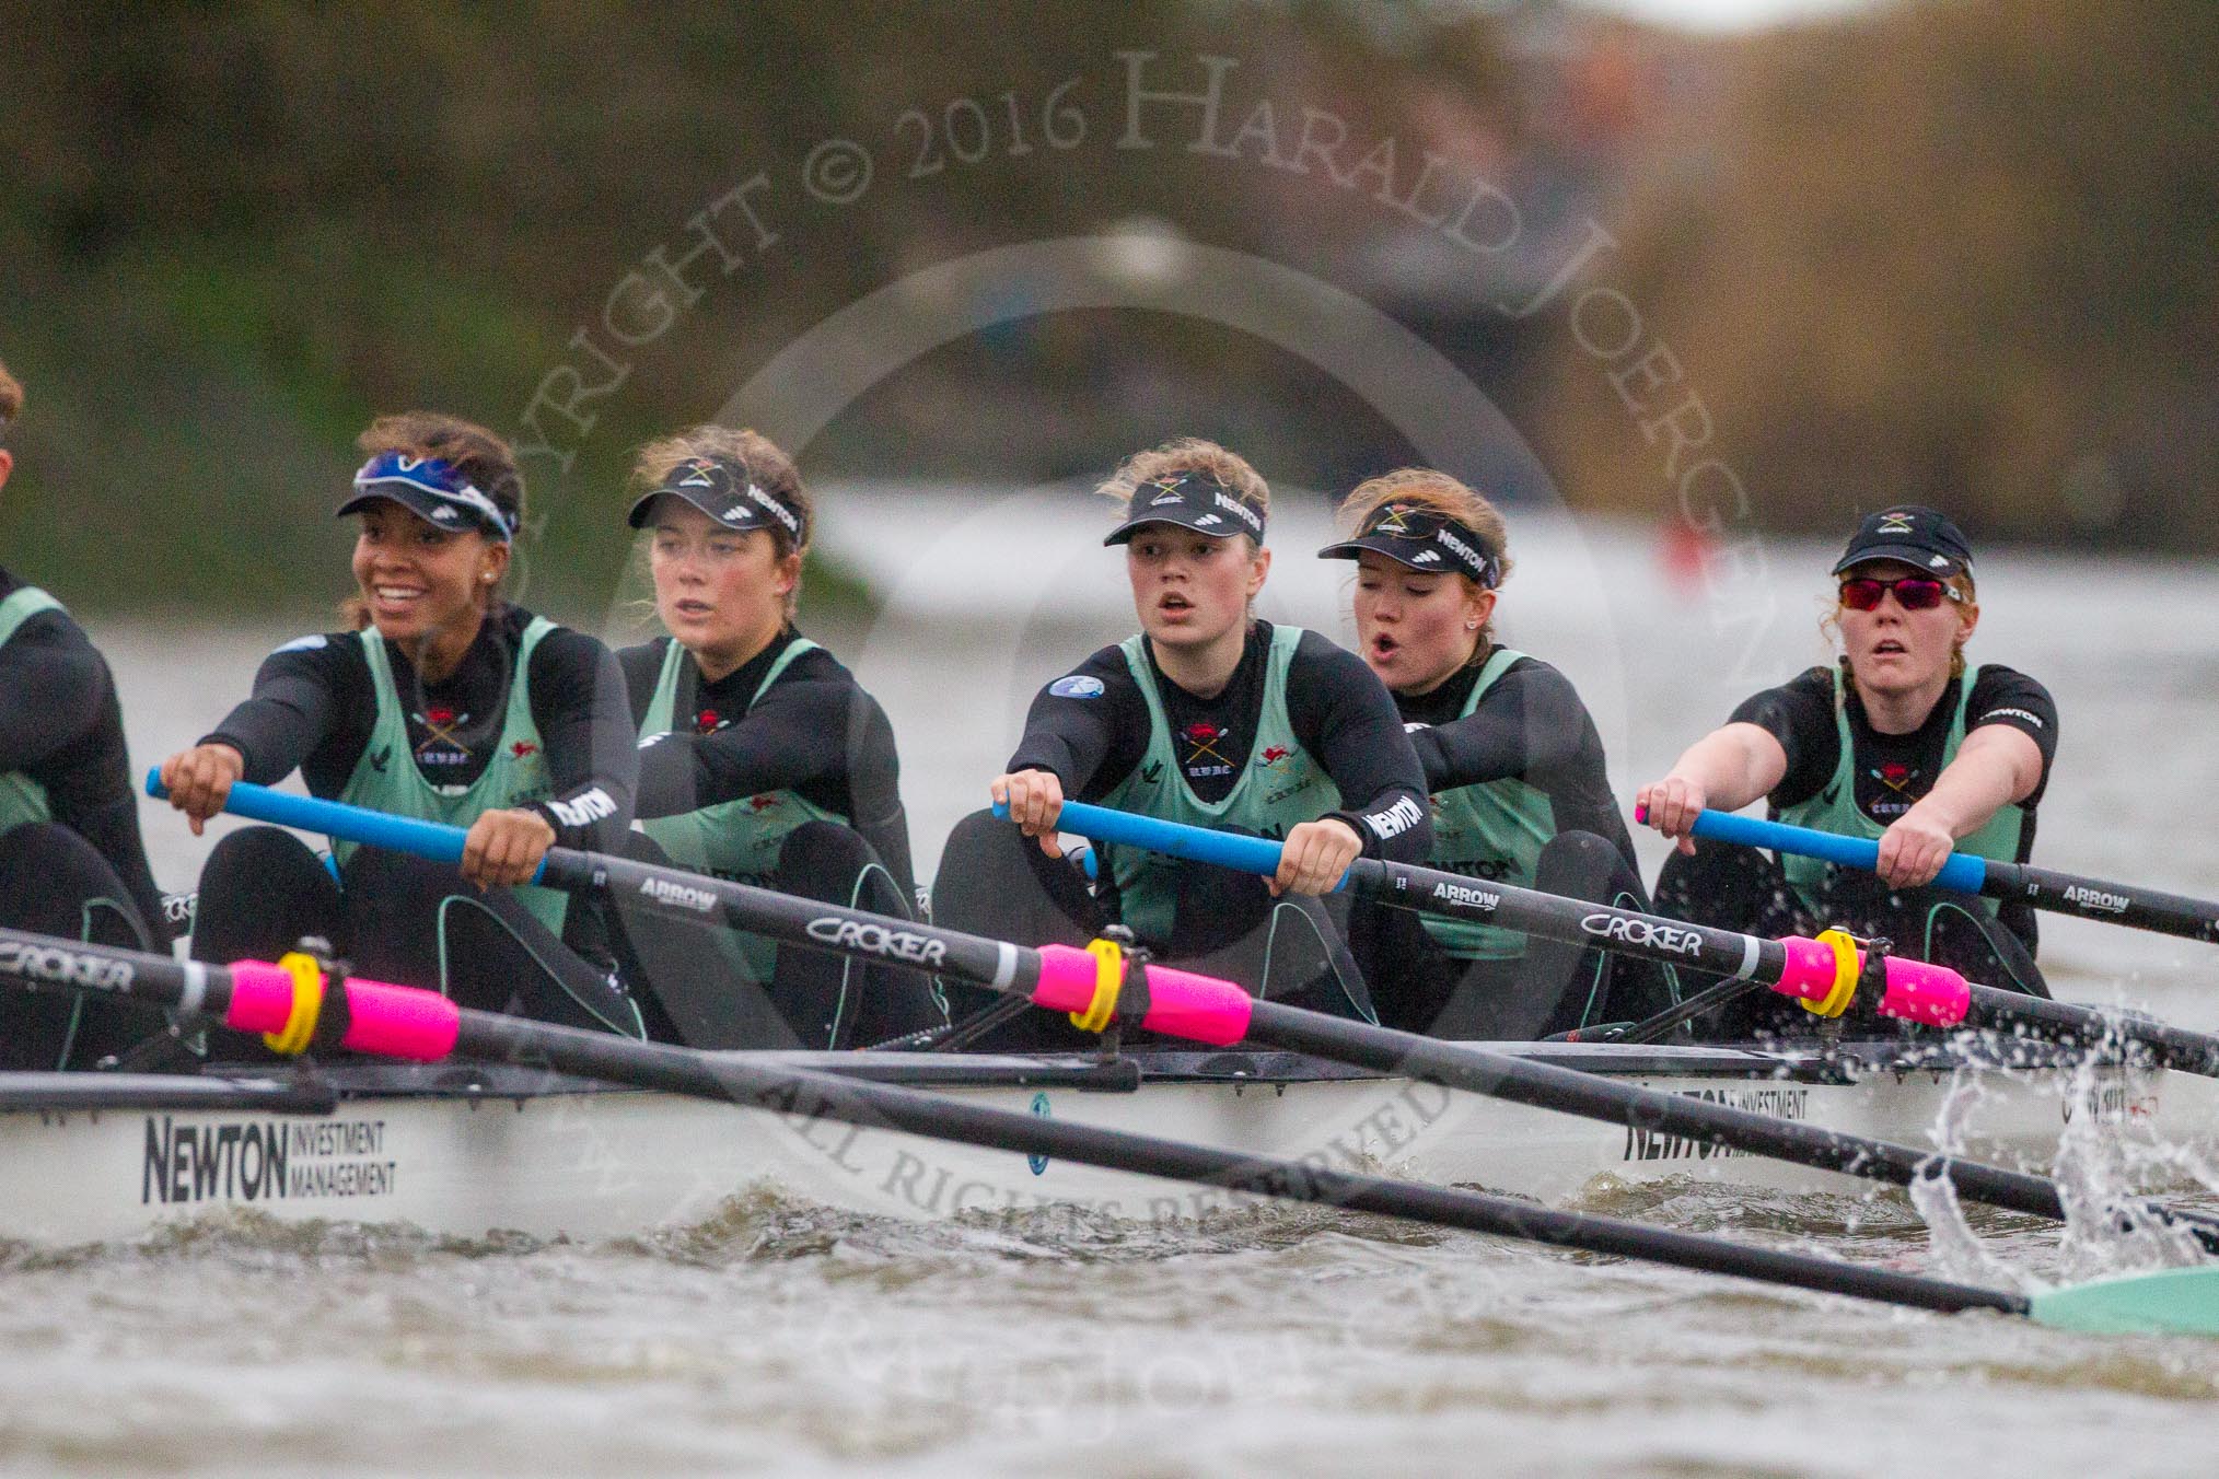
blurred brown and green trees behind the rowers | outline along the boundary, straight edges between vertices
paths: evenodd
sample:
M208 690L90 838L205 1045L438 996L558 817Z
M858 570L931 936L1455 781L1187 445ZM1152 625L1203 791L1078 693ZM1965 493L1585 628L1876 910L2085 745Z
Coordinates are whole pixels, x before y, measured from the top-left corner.
M1533 231L1447 251L1369 184L1258 169L1265 144L1183 149L1185 115L1118 151L1121 49L1178 89L1205 82L1200 55L1236 58L1220 137L1269 100L1291 153L1325 111L1342 164L1394 135L1402 184L1436 151ZM1622 288L1671 346L1753 521L1926 499L1975 537L2219 543L2210 0L1897 2L1740 40L1538 0L180 0L11 7L0 58L0 359L31 397L0 552L73 603L326 603L346 543L328 510L371 415L450 408L524 441L535 388L644 253L759 171L792 202L837 135L874 151L868 202L788 204L774 251L710 273L630 359L575 463L530 466L535 599L606 596L630 448L712 415L828 315L970 251L1136 220L1396 315L1511 412L1573 506L1675 508L1615 366L1562 313L1500 308L1600 222L1615 246L1582 282ZM1054 151L1041 106L1070 78L1087 135ZM994 146L908 177L903 111L963 98ZM1110 319L928 355L805 470L1023 483L1176 430L1296 486L1407 457L1278 350Z

